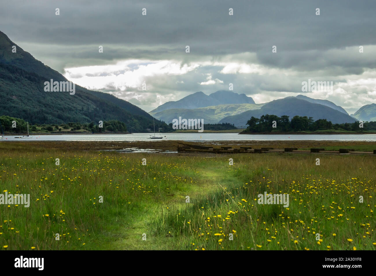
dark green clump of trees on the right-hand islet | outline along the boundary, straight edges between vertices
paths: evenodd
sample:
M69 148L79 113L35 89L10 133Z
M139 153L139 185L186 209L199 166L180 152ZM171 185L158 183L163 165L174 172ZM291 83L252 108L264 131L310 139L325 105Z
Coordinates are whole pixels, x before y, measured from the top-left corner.
M247 121L245 132L267 133L267 132L290 132L290 131L317 131L317 130L339 130L363 132L376 130L376 122L364 122L363 128L359 127L359 122L332 124L326 119L313 120L313 117L294 116L291 120L289 116L262 115L260 118L251 117Z

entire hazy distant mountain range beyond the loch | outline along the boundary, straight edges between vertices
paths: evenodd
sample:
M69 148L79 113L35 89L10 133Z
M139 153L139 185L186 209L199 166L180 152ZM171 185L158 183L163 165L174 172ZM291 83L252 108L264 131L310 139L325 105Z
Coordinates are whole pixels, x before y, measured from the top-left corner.
M206 106L213 101L206 102L205 99L219 94L222 97L218 101L222 104ZM224 90L214 92L209 96L196 92L179 101L162 104L149 113L167 124L171 123L174 118L182 116L182 118L204 119L204 122L208 124L230 123L236 127L246 126L252 116L260 118L265 114L287 115L290 119L296 115L307 116L313 117L314 120L327 119L333 124L352 123L357 120L376 121L376 104L363 106L353 115L349 115L341 106L331 101L312 99L305 95L286 97L262 104L255 104L251 97L245 97L247 97L245 94L239 95ZM246 99L247 103L242 102L242 99ZM200 105L205 107L197 107Z

